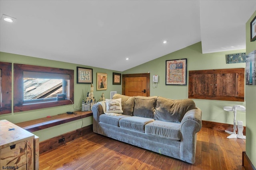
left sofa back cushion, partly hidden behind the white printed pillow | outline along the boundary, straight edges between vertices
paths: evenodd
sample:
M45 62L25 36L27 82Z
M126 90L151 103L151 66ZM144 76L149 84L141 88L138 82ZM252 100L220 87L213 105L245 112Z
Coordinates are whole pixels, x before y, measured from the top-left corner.
M113 99L118 98L121 98L123 114L132 116L134 107L134 97L125 96L122 94L115 94L113 96Z

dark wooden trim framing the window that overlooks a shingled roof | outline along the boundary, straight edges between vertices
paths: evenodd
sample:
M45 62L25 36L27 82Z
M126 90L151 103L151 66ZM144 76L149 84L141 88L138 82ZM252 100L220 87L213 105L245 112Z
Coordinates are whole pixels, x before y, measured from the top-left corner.
M60 101L24 105L23 104L23 71L69 74L70 83L69 83L69 90L68 90L69 92L67 94L67 98L69 98L74 103L74 70L14 63L14 99L13 99L14 112L72 104L70 100L60 100Z

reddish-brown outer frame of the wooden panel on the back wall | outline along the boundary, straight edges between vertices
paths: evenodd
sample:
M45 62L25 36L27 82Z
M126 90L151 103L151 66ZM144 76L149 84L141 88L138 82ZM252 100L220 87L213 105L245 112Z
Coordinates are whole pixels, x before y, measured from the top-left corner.
M194 82L193 75L195 74L226 74L226 73L236 73L238 75L238 82L236 86L238 87L238 96L206 96L206 95L196 95L193 94ZM206 100L227 100L227 101L238 101L244 102L244 68L228 68L228 69L216 69L216 70L191 70L188 73L188 98L194 99L206 99ZM216 79L216 75L214 75ZM216 90L216 87L214 88Z

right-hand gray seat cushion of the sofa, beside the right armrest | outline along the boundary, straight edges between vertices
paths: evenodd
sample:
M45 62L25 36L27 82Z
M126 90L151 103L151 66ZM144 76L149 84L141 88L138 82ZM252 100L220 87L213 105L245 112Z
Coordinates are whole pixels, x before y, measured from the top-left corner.
M145 125L145 133L156 137L179 141L180 123L156 120Z

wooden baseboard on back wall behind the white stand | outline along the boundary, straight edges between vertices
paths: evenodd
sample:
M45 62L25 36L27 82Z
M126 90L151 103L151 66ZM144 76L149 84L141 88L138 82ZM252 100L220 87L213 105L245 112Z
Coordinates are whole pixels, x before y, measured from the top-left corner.
M218 123L214 121L202 120L202 127L220 130L220 131L233 131L233 125L227 123ZM243 134L246 136L246 127L244 126Z

